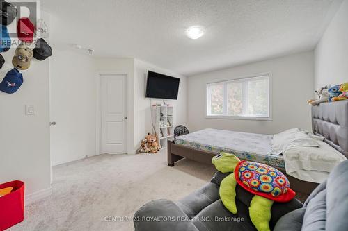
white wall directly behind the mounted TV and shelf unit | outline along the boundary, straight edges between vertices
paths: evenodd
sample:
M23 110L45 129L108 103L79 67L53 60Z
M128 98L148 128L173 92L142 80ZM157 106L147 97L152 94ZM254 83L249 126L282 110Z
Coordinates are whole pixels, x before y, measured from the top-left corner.
M145 86L148 71L155 71L168 76L180 78L179 94L177 100L165 100L174 106L174 126L179 124L187 126L187 78L176 74L168 69L157 67L142 60L134 60L134 103L135 103L135 120L134 120L134 148L138 148L141 139L148 132L152 132L150 99L145 98ZM152 104L161 103L160 99L152 100Z

